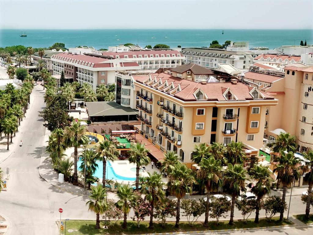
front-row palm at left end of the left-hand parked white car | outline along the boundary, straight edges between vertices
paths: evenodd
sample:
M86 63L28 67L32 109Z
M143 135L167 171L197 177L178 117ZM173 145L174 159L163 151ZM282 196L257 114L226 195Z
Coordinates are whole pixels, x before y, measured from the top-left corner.
M207 188L204 227L208 227L210 193L212 189L217 189L221 185L222 162L219 159L215 160L212 156L209 159L203 158L198 165L200 169L197 172L197 176L203 180Z

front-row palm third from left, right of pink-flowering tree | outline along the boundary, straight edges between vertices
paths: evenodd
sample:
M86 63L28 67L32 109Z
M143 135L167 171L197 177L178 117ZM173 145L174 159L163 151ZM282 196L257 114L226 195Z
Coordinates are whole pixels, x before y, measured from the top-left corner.
M162 189L162 175L154 172L152 175L148 172L147 177L144 178L144 183L142 185L143 193L145 193L145 198L150 202L150 222L149 228L153 228L153 209L157 203L160 203L165 196Z

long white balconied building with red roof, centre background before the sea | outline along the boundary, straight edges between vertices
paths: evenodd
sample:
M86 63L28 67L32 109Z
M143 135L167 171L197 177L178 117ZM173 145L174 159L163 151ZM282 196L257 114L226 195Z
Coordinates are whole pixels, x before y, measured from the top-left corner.
M125 49L125 48L124 48ZM128 50L128 49L125 49ZM104 51L102 55L113 59L123 59L128 62L136 62L141 70L157 70L159 68L175 68L182 65L185 60L177 50L162 50L162 49L141 49L128 50L123 52Z

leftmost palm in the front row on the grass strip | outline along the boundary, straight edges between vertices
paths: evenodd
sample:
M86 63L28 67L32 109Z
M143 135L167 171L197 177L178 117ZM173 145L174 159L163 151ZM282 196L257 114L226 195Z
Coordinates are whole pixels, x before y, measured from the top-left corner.
M108 205L105 202L106 189L98 185L96 188L92 188L90 200L86 202L88 210L96 213L96 229L100 228L100 214L105 212Z

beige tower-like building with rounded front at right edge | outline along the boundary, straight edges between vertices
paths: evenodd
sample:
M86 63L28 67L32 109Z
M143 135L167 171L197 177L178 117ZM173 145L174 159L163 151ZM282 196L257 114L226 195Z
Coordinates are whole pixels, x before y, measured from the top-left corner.
M282 79L272 77L277 80L261 90L279 102L266 108L264 137L275 141L280 132L289 132L299 151L313 149L313 66L294 64L285 67Z

